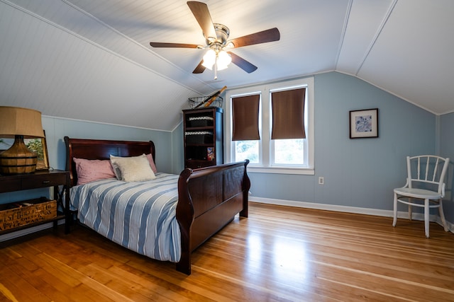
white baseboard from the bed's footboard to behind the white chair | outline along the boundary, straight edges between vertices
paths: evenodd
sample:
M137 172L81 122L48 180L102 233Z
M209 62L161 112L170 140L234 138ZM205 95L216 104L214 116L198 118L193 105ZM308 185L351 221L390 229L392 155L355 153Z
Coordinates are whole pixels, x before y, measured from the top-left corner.
M393 211L392 210L380 210L380 209L368 209L368 208L360 208L360 207L348 207L348 206L338 206L335 204L317 204L315 202L296 202L292 200L284 200L284 199L272 199L272 198L263 198L263 197L253 197L249 196L250 202L260 202L262 204L277 204L281 206L288 206L288 207L299 207L299 208L306 208L306 209L319 209L319 210L326 210L326 211L341 211L346 213L355 213L355 214L365 214L365 215L373 215L373 216L384 216L384 217L392 217ZM398 211L397 218L408 219L409 212L408 211ZM424 220L423 213L413 213L414 220ZM431 215L431 221L438 223L439 225L443 226L441 223L440 216L438 215ZM450 221L446 221L446 225L450 232L454 233L454 224Z

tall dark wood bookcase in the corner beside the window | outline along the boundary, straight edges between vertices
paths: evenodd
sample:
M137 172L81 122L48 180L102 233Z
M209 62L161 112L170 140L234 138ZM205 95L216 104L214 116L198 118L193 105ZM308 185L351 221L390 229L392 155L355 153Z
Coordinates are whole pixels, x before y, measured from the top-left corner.
M183 110L184 168L223 164L222 119L223 110L218 107Z

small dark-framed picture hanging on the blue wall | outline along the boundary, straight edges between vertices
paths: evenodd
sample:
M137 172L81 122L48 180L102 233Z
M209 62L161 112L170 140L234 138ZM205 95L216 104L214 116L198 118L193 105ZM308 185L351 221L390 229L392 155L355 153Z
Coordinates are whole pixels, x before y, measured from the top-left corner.
M378 108L350 111L350 139L378 137Z

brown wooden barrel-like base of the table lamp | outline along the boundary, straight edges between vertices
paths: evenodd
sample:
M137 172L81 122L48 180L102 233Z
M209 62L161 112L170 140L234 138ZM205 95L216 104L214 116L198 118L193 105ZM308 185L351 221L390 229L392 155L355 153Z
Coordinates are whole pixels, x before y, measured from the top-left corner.
M0 153L0 174L34 173L36 152L30 151L23 142L23 135L16 135L10 149Z

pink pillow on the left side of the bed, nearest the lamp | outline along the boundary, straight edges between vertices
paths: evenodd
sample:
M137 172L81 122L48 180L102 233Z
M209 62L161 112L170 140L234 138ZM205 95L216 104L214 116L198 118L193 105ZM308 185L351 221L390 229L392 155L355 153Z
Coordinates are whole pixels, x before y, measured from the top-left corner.
M73 158L76 163L77 185L83 185L94 180L104 180L106 178L115 178L114 169L111 161L99 159Z

